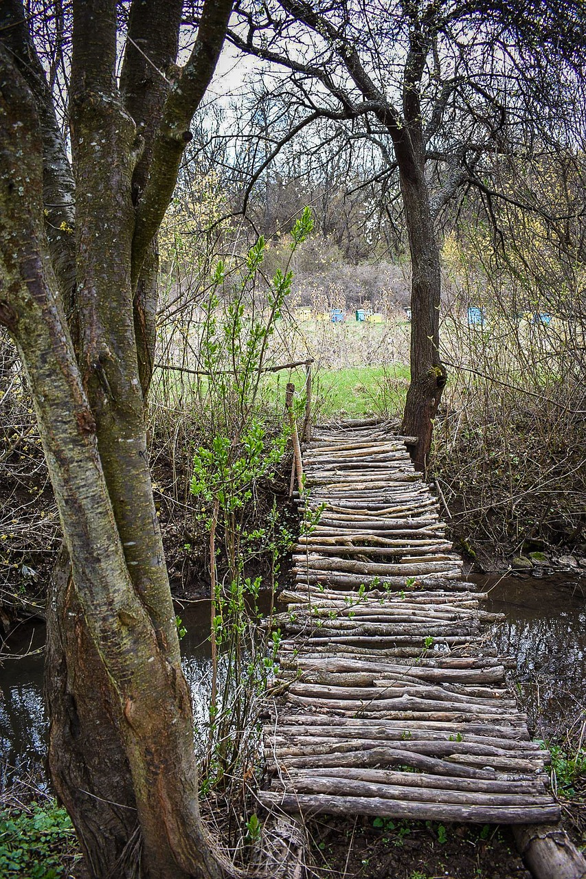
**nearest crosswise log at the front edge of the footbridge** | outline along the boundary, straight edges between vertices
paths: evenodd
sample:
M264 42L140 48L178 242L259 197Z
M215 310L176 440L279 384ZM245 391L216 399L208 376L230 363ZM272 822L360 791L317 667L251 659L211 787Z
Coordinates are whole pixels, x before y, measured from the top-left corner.
M267 809L301 811L305 815L374 815L411 818L419 821L461 821L475 824L527 824L559 820L555 803L538 806L455 806L443 803L406 803L379 797L328 796L324 794L281 794L260 791L259 800Z

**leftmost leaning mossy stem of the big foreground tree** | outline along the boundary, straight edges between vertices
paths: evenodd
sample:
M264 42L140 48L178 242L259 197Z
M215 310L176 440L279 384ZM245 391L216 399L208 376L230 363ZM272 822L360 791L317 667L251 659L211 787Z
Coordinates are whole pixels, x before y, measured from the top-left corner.
M157 879L220 875L201 830L193 719L176 630L168 619L159 622L160 609L158 618L150 618L147 601L128 575L99 459L96 422L53 292L56 281L43 228L40 130L33 98L11 56L4 49L0 53L0 240L4 245L0 320L15 338L26 366L72 564L76 594L70 598L71 613L75 614L78 600L92 642L89 647L83 626L78 632L68 628L68 643L62 643L66 652L72 650L68 672L71 676L75 658L80 671L84 663L91 666L99 661L103 672L96 686L101 689L107 681L105 691L93 693L104 700L99 710L85 712L80 703L80 714L71 701L70 733L89 741L91 726L82 730L78 722L85 718L91 724L102 713L111 716L114 730L120 730L141 828L142 875ZM145 515L141 507L139 495L139 519ZM70 607L65 607L69 618ZM55 614L63 609L55 607ZM68 626L70 622L71 618ZM115 762L121 765L120 752L115 753ZM88 763L85 768L89 774L92 766ZM122 780L122 795L124 786ZM66 790L63 793L67 795ZM90 790L89 795L101 793ZM76 817L78 804L66 804ZM84 846L92 850L87 839ZM113 867L112 862L100 863L93 875L112 875Z

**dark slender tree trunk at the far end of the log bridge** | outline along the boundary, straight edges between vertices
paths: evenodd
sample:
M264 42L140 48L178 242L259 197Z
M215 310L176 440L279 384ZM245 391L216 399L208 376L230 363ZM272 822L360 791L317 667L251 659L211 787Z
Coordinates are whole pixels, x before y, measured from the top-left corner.
M446 383L439 354L440 259L422 164L414 163L400 178L412 271L411 383L401 432L418 438L409 452L415 468L425 471L433 419Z

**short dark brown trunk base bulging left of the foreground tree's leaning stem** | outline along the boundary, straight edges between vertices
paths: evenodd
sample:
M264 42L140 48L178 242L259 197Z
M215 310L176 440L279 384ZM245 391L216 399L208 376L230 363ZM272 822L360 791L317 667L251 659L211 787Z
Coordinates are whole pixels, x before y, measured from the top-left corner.
M99 657L62 549L47 603L45 698L55 790L77 828L90 875L139 875L141 832L117 697Z

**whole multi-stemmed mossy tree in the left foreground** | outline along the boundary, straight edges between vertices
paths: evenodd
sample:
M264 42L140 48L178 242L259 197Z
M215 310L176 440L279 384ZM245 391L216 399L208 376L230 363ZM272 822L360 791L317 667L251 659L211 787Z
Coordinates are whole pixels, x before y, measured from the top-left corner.
M49 760L92 876L223 872L201 828L144 418L155 236L231 11L204 4L194 52L171 78L181 6L132 4L128 45L140 51L127 51L119 84L114 0L75 0L72 169L18 0L1 22L0 323L26 368L62 522ZM165 163L159 186L154 156ZM69 212L51 241L48 179L50 205Z

